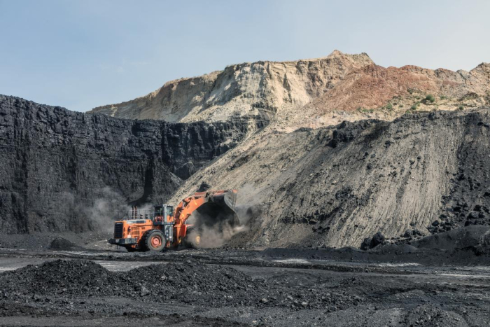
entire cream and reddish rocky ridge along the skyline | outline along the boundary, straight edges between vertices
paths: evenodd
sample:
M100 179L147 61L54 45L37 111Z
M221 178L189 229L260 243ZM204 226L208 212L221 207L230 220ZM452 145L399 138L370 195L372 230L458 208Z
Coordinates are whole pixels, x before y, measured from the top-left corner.
M456 110L490 104L490 64L471 71L380 67L365 53L335 50L293 62L235 64L170 81L144 97L92 109L120 118L169 122L256 115L291 131L343 120L393 120L406 111Z

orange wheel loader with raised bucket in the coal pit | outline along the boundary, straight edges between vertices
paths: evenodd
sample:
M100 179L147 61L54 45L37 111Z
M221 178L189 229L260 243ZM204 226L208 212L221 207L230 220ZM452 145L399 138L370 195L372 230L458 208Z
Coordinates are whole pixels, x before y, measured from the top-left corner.
M219 230L225 224L237 225L236 194L237 190L197 192L183 199L175 209L172 205L158 204L149 210L132 207L129 212L119 211L114 238L108 242L123 246L128 252L199 247L204 228Z

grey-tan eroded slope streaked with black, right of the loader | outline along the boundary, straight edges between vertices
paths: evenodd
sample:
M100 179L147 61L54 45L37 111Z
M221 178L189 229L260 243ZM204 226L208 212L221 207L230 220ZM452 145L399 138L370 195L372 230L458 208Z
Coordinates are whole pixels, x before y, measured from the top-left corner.
M434 221L489 223L489 109L407 114L292 133L265 131L193 175L241 189L258 214L239 242L359 246ZM468 221L468 223L467 223Z

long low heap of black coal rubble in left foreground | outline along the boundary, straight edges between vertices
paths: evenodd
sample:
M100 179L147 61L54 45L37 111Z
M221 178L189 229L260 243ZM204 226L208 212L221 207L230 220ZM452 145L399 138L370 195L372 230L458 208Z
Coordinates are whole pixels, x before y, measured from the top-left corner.
M3 297L50 302L50 298L116 296L140 301L208 307L255 305L292 309L344 309L363 298L279 281L253 279L244 272L195 260L111 272L89 260L55 260L0 274Z

